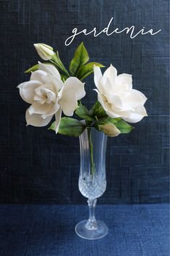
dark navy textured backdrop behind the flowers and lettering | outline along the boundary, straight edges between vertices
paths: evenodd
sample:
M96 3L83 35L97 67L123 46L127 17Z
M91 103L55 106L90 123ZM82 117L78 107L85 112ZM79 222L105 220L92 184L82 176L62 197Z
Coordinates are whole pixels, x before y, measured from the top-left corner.
M156 36L130 39L122 34L98 38L78 36L64 41L72 29L97 26L114 17L113 28L161 29ZM166 0L14 0L0 1L0 202L85 202L77 187L78 139L55 136L47 128L25 127L25 110L17 84L38 60L33 43L56 47L69 65L84 41L91 59L112 63L133 75L134 87L148 96L148 117L135 131L109 139L107 191L100 202L168 202L169 198L169 1ZM85 100L91 106L93 76Z

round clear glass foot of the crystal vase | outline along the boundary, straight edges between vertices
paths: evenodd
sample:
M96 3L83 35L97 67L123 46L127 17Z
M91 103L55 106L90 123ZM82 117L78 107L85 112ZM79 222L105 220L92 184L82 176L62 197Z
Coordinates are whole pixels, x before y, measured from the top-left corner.
M108 227L103 221L98 220L98 228L95 230L90 230L86 228L86 223L88 220L82 220L75 226L75 233L83 239L95 240L101 239L108 234Z

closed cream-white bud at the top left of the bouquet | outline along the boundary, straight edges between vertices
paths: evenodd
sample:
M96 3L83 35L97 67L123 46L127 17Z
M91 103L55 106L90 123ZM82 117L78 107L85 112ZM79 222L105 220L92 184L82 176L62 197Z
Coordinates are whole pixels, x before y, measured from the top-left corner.
M47 44L34 44L34 46L41 59L49 60L53 57L54 51L51 46L48 46Z

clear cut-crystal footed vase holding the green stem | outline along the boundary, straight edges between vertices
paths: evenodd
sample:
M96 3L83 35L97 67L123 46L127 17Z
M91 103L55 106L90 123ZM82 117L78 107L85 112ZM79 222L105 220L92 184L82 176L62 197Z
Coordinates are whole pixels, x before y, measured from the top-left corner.
M95 219L98 197L106 190L107 136L95 128L86 128L80 136L79 190L88 198L89 218L75 226L75 232L84 239L100 239L108 234L108 227Z

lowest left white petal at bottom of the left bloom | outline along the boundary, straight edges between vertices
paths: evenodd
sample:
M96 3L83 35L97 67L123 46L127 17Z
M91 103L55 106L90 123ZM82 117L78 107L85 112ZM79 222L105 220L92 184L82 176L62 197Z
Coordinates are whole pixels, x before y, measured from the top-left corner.
M25 118L27 125L33 125L36 127L46 126L50 123L53 116L47 117L46 119L42 118L39 114L30 115L28 110L26 111Z

